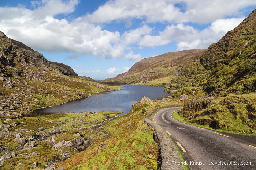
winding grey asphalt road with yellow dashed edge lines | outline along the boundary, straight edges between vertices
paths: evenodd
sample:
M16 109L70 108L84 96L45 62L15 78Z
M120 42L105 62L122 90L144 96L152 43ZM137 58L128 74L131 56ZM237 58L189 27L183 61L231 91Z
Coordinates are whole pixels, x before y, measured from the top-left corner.
M217 132L179 122L172 117L172 112L178 109L161 109L151 120L180 144L190 170L256 170L255 136ZM180 162L170 165L173 163Z

